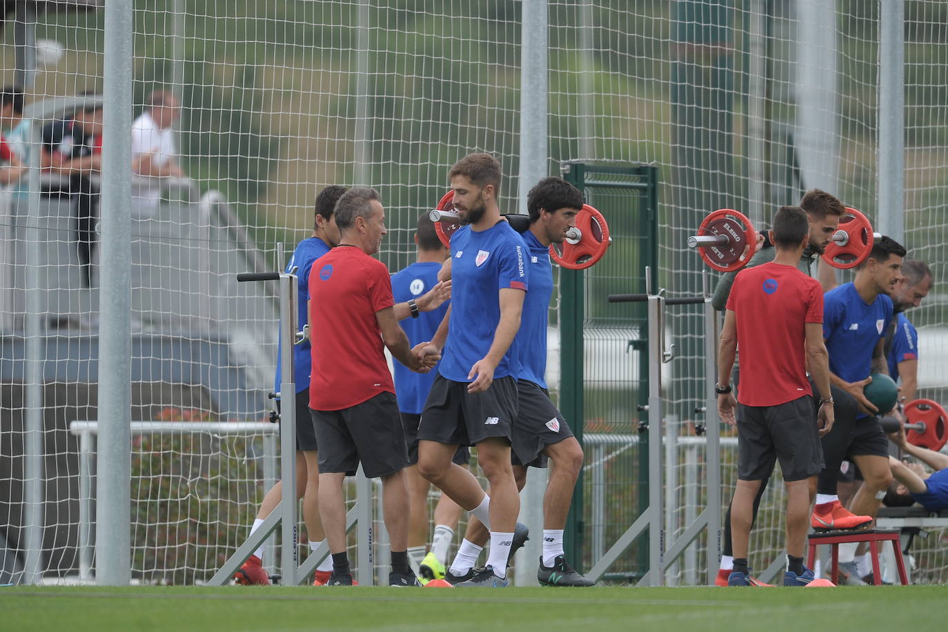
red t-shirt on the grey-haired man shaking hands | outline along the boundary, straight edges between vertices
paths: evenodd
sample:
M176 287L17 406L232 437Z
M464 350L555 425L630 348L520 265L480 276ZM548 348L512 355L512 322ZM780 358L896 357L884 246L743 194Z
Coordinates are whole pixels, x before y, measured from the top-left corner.
M389 269L361 249L337 246L309 274L313 371L309 406L340 410L395 392L375 312L392 307Z

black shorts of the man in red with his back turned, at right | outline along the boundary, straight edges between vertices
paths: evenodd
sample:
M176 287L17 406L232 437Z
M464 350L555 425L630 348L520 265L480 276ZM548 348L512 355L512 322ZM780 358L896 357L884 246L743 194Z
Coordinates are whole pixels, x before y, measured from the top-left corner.
M738 405L738 479L770 477L775 460L788 482L823 470L811 395L776 406Z

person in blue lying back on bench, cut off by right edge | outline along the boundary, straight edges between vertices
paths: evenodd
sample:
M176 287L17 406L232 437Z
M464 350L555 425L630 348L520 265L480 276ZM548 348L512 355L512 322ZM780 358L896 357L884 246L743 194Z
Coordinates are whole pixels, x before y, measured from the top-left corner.
M948 509L948 456L912 445L905 439L903 426L899 427L899 432L890 434L889 438L901 447L903 452L921 460L935 472L927 474L918 464L906 464L894 457L889 457L892 476L896 480L892 483L889 493L886 494L886 504L908 506L911 503L907 502L907 499L911 498L928 512L935 513Z

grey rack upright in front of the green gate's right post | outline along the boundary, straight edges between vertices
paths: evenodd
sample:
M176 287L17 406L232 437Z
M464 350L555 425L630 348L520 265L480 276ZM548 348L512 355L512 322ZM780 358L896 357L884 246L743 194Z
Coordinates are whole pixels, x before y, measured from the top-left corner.
M648 297L648 580L665 585L665 529L662 496L662 359L665 355L665 298Z

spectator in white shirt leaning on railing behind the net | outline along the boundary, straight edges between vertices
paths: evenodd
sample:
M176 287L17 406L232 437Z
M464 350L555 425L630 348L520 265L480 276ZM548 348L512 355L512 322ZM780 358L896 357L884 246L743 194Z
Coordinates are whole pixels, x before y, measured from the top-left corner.
M180 113L181 104L171 92L155 90L145 101L145 111L132 123L132 172L144 176L132 190L140 215L155 213L162 180L184 177L172 131Z

